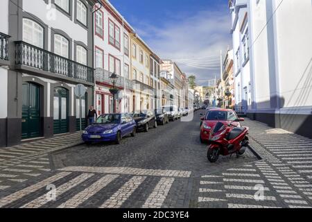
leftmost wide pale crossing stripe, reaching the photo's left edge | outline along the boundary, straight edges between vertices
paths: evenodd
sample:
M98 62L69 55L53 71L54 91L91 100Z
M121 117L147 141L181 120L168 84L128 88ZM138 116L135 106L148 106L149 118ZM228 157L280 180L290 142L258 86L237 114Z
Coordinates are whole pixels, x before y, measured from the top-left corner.
M65 176L68 176L69 174L71 173L70 172L58 173L54 176L51 176L50 178L46 178L45 180L37 182L35 185L31 185L29 187L16 191L13 194L5 196L0 199L0 207L3 207L4 205L8 205L9 203L12 203L15 200L18 200L19 198L23 198L24 196L31 194L37 191L38 189L41 189L42 187L45 187L46 185L49 185L52 182L55 182L56 180L60 180L61 178L64 178Z

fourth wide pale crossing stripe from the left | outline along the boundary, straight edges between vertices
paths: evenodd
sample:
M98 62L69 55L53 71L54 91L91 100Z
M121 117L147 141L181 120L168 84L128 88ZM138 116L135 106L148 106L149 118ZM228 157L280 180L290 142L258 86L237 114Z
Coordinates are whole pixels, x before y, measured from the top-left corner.
M125 200L127 200L133 192L146 179L146 176L134 176L126 182L116 193L101 205L100 208L119 208Z

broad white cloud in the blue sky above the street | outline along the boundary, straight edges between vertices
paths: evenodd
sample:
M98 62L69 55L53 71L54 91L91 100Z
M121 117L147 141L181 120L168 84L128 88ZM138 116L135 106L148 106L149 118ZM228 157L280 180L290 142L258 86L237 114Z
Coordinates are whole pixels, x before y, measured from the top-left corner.
M231 18L227 6L224 7L223 10L200 10L191 16L175 14L157 26L136 22L135 28L163 59L217 56L220 55L220 50L224 52L232 45L229 34ZM208 60L211 58L207 58ZM204 60L200 60L200 64L202 61ZM197 69L177 63L185 73L196 74L200 85L205 85L205 80L214 78L214 75L220 76L220 70Z

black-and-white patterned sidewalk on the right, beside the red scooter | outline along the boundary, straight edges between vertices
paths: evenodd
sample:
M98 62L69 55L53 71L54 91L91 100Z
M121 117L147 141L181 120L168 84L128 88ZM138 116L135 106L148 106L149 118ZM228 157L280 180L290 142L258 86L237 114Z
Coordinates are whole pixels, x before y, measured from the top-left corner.
M263 160L202 176L198 207L312 207L312 139L249 119L243 125Z

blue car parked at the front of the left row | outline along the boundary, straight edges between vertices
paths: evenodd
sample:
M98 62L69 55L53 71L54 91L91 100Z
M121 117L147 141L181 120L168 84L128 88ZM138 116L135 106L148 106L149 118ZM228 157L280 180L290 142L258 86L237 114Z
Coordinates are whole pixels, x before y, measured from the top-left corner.
M135 137L137 124L130 114L102 114L95 123L83 131L83 141L86 144L92 142L116 142L120 144L126 135Z

